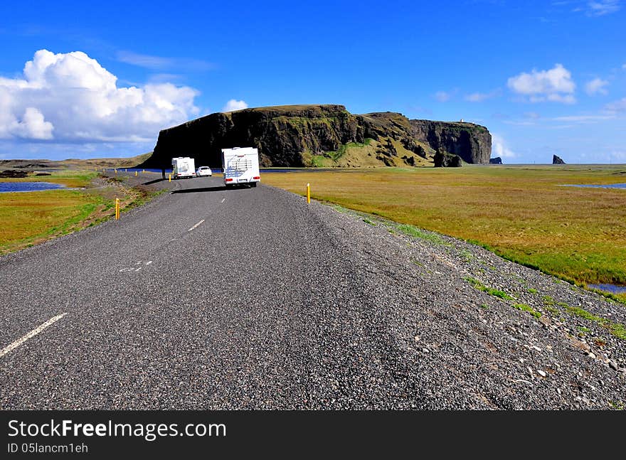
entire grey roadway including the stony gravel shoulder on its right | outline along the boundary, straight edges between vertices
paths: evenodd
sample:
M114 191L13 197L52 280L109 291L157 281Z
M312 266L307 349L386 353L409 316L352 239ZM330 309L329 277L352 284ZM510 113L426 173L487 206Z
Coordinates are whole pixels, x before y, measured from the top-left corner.
M626 341L572 314L626 324L598 294L268 186L152 186L171 193L0 257L0 409L626 403Z

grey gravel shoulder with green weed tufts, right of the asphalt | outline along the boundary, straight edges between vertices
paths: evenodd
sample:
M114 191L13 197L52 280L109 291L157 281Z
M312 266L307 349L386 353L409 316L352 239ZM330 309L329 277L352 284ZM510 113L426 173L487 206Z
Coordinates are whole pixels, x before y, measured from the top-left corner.
M339 206L310 210L351 252L378 309L368 314L423 391L420 408L626 404L626 306L451 237L410 236Z

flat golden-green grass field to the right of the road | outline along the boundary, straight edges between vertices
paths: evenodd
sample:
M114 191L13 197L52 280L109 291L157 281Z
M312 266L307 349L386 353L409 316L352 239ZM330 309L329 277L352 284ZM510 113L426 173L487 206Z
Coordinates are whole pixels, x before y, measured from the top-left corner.
M263 173L263 183L477 242L578 283L626 284L626 165Z

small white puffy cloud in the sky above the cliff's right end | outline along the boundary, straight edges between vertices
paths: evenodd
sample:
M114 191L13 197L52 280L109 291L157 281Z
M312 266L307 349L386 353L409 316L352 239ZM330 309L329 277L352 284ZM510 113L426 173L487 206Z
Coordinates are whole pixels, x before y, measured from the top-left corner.
M554 65L550 70L533 69L531 73L522 72L510 77L506 85L513 92L529 97L531 102L575 102L575 82L571 72L561 64Z

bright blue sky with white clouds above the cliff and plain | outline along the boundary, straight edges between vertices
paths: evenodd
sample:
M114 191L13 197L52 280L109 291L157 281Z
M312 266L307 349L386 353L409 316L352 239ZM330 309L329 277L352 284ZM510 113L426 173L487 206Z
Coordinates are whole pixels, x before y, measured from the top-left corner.
M484 124L505 163L626 163L626 0L22 3L0 6L0 159L334 103Z

